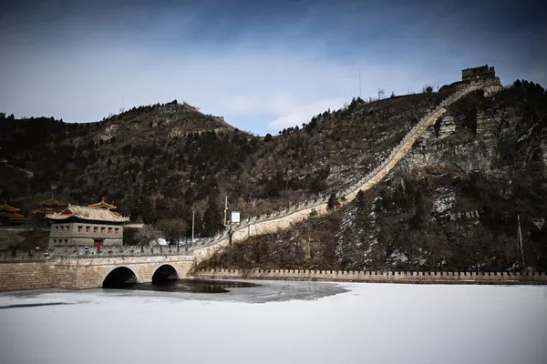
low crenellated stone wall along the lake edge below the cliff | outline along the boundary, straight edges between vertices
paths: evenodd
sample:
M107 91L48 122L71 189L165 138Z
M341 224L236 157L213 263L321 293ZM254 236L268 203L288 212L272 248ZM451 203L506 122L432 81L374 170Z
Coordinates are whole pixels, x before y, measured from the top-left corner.
M201 269L195 278L280 279L376 283L545 284L545 272L376 272L304 269Z

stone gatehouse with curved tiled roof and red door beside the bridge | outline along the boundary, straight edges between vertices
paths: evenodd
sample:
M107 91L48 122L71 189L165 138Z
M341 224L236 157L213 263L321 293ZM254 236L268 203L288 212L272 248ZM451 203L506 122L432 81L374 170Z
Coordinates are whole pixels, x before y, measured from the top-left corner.
M83 206L68 206L60 213L46 215L46 218L51 220L49 248L95 246L98 251L102 246L122 245L123 224L129 221L129 217L122 217L108 207Z

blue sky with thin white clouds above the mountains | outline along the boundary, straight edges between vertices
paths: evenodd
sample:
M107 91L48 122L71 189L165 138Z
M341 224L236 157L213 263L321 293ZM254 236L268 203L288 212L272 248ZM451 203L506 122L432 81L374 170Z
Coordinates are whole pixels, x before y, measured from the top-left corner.
M543 14L528 0L8 0L0 110L88 122L177 99L265 135L473 66L547 86Z

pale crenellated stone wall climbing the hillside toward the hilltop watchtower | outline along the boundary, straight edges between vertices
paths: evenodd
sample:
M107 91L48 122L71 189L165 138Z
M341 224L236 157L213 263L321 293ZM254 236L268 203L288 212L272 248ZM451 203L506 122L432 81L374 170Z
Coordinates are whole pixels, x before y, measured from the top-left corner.
M427 116L422 117L416 126L408 132L408 135L395 147L389 156L380 166L361 178L355 185L346 188L339 193L342 201L352 201L359 190L366 191L374 187L379 181L389 174L399 160L408 154L414 143L422 136L429 126L435 124L439 117L446 113L444 106L449 106L462 96L469 94L472 91L483 89L487 93L492 94L502 89L498 82L482 82L471 84L470 86L460 89L448 98L444 99L437 108L432 110ZM255 235L267 234L275 232L279 229L284 229L290 225L309 218L312 215L321 215L327 212L328 197L322 197L304 203L296 204L288 207L285 210L275 211L274 213L265 216L250 217L244 220L242 224L232 227L232 242L241 241ZM230 242L230 232L225 230L222 235L210 239L204 239L195 243L191 249L194 257L198 262L210 258L212 254L226 246Z

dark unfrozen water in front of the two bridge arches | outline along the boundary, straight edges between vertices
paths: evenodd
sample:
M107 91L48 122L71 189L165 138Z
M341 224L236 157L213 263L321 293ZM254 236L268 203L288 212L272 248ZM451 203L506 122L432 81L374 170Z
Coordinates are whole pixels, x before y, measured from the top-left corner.
M152 290L160 292L226 293L228 288L259 287L249 282L204 279L164 279L151 283L120 283L113 289Z

